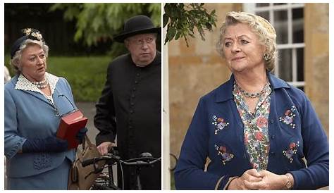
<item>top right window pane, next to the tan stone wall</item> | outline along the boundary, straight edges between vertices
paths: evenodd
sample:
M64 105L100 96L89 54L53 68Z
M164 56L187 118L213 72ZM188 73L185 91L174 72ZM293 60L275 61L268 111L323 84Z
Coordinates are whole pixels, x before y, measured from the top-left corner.
M302 43L304 42L304 9L294 8L292 9L292 42Z

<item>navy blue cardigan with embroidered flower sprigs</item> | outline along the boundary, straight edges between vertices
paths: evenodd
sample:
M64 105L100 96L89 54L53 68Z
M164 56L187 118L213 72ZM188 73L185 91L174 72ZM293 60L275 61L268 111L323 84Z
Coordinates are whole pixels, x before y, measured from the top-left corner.
M268 79L273 92L267 170L291 173L295 179L293 189L328 185L328 139L311 102L300 89L270 73ZM214 189L221 177L218 188L223 189L228 178L241 176L252 168L244 145L244 126L233 100L233 82L232 75L228 82L199 100L175 169L177 189ZM225 124L217 135L214 118L223 118ZM204 172L206 157L211 163Z

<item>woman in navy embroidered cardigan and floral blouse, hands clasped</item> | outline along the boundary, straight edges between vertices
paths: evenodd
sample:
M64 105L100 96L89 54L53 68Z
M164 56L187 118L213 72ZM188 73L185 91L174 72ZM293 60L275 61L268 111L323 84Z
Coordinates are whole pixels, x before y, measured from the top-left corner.
M180 152L175 186L328 185L328 140L311 102L270 73L277 60L271 24L257 15L230 12L220 32L217 49L233 75L199 100ZM205 171L207 157L211 162Z

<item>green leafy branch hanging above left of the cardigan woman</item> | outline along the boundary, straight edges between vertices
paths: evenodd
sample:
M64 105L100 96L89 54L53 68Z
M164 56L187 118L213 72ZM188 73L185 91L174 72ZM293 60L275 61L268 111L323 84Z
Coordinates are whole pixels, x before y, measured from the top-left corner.
M216 27L216 11L207 13L204 4L165 4L163 14L163 27L167 25L165 44L180 37L187 42L187 36L194 37L194 27L204 41L204 30L212 31Z

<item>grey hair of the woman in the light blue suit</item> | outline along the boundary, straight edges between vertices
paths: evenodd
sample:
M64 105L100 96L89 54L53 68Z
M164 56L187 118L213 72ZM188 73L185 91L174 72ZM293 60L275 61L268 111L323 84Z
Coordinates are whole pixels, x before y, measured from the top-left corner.
M20 46L20 49L18 51L16 51L16 53L14 54L13 58L10 61L10 64L12 66L12 68L15 70L16 74L20 74L22 71L22 65L21 65L21 60L22 60L22 54L23 51L28 47L28 46L32 46L32 45L39 45L45 54L45 58L47 58L48 54L49 54L49 46L47 46L47 44L45 44L45 42L42 41L38 41L38 40L32 40L32 39L27 39L25 40L25 42L23 42Z

